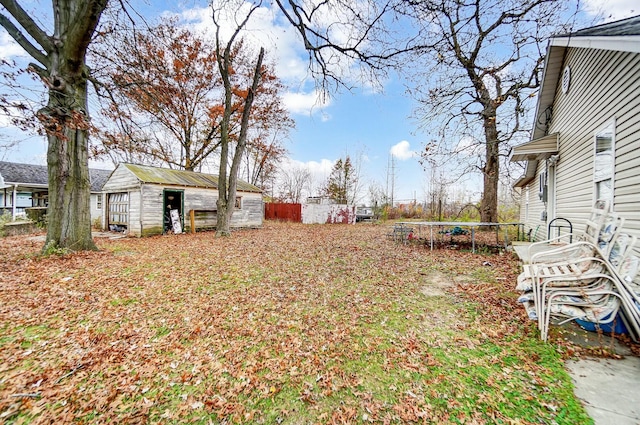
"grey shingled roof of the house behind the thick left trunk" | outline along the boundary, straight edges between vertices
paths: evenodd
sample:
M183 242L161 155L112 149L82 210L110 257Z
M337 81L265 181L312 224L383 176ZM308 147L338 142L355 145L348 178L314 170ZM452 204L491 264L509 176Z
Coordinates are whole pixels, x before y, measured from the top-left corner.
M100 192L111 174L110 170L89 169L91 192ZM33 188L48 188L49 175L46 165L21 164L0 161L0 177L5 185L19 185Z

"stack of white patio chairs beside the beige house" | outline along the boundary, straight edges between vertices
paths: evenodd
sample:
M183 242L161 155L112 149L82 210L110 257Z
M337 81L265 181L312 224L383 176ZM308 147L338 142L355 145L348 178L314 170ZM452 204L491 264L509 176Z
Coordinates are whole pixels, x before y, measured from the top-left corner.
M640 260L630 255L636 238L621 233L623 223L598 201L576 242L537 254L530 249L531 262L523 266L517 289L543 340L552 317L605 324L616 320L620 309L632 336L640 337L640 297L632 283Z

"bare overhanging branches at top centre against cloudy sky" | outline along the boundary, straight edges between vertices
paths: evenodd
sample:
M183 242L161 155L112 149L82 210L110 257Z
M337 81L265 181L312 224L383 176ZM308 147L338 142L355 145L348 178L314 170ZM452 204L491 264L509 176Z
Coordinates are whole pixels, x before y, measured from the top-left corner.
M389 65L419 41L390 23L404 0L275 0L302 37L309 69L324 93L355 82L379 83Z

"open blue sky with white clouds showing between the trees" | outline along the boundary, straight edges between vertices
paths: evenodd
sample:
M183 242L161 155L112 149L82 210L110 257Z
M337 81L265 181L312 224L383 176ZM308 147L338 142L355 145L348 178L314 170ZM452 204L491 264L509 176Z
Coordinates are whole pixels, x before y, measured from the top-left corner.
M635 10L637 0L586 0L583 7L587 13L595 14L603 5L607 8L607 20L614 20L640 13ZM27 1L37 8L38 3ZM41 8L50 8L42 1ZM170 12L181 13L182 18L193 27L205 27L210 22L206 7L194 7L196 2L171 6ZM136 1L132 1L136 4ZM152 2L152 6L139 4L138 10L151 19L165 13L162 5L169 2ZM37 9L36 9L37 10ZM42 10L42 9L41 9ZM333 163L345 154L361 161L362 177L367 182L387 184L390 155L395 162L395 199L418 201L425 198L425 172L418 163L416 152L429 140L428 134L417 131L417 123L411 117L416 106L404 93L403 84L393 76L384 84L384 92L370 88L342 91L320 104L313 84L307 77L307 59L302 45L293 32L277 16L265 10L255 24L256 37L271 40L271 59L276 63L280 78L289 85L285 104L296 122L285 146L289 160L294 164L309 166L317 181L326 178ZM19 58L20 48L0 28L0 58ZM269 48L268 48L269 50ZM7 140L22 142L11 150L0 150L0 159L26 163L45 163L46 145L40 137L21 133L0 117L0 143ZM95 164L93 164L95 166ZM104 165L101 168L105 168ZM480 176L469 175L460 187L472 195L479 196ZM365 188L368 184L364 185Z

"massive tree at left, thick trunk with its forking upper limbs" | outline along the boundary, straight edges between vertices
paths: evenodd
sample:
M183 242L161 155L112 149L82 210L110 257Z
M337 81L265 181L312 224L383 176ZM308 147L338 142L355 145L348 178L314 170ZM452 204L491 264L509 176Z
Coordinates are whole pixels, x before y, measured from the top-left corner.
M0 0L0 26L35 61L48 90L38 117L49 142L45 249L91 250L87 130L87 46L107 0L53 0L49 33L15 0Z

